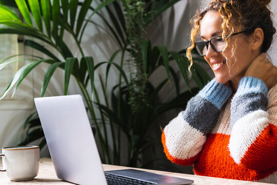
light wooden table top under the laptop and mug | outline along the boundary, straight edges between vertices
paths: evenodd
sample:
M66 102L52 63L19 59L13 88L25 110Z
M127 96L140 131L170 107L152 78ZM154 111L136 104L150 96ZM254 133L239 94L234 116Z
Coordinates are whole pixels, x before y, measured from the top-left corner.
M2 168L2 160L0 160L0 168ZM128 167L120 167L115 165L108 165L103 164L103 168L105 171L108 170L121 170L121 169L128 169ZM145 169L140 169L145 170ZM158 174L170 175L174 177L180 178L187 178L194 180L193 184L253 184L253 185L262 185L262 184L270 184L270 183L260 183L260 182L249 182L249 181L242 181L242 180L232 180L232 179L223 179L223 178L214 178L214 177L205 177L205 176L196 176L196 175L188 175L188 174L180 174L180 173L172 173L172 172L162 172L162 171L155 171L155 170L145 170L148 172L154 172ZM41 163L39 166L39 172L36 178L30 181L21 181L15 182L10 181L5 177L4 172L0 172L0 184L72 184L69 182L65 182L60 180L56 177L56 173L53 167L52 160L50 158L41 158ZM272 185L272 184L271 184Z

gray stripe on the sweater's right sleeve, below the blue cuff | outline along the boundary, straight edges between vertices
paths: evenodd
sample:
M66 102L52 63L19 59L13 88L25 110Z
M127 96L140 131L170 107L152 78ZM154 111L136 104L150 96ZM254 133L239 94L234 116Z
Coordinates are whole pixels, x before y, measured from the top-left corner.
M264 93L249 93L234 97L231 103L231 127L236 121L255 110L266 111L267 101Z

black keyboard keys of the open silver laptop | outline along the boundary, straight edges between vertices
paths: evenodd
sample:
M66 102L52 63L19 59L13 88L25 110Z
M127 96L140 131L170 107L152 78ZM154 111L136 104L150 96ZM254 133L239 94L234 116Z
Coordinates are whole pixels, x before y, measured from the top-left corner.
M128 177L122 177L111 173L105 173L108 185L144 185L144 184L155 184L153 182L136 180Z

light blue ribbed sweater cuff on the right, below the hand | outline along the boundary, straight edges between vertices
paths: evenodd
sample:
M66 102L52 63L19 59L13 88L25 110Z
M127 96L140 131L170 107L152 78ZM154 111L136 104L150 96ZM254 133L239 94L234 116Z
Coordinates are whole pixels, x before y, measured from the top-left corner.
M234 97L250 93L263 93L265 96L267 96L267 91L267 86L261 79L254 77L243 77L239 83L239 88L236 91Z

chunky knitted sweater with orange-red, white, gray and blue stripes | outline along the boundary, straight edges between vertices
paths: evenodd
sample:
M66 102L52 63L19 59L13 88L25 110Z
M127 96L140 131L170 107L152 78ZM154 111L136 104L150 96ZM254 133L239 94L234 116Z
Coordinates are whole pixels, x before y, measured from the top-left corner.
M244 77L232 90L210 81L162 134L164 152L194 173L277 183L277 85Z

